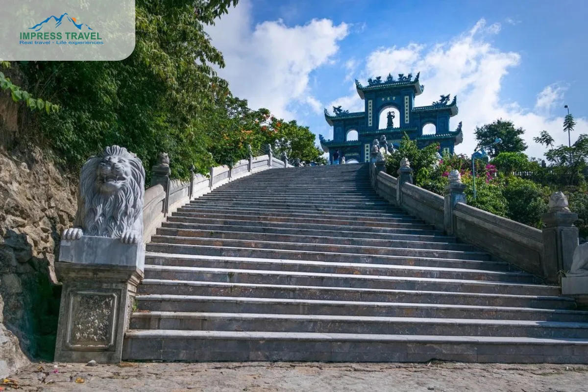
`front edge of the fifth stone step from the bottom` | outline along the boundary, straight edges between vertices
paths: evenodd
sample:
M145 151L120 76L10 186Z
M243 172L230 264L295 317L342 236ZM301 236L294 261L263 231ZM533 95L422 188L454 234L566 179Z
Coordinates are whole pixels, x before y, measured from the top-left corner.
M412 276L378 276L378 275L355 275L355 274L333 274L322 272L292 272L292 271L272 271L272 270L242 270L237 268L213 268L213 267L181 267L181 266L157 266L153 264L145 264L145 272L147 271L162 271L162 272L185 272L185 273L213 273L213 274L249 274L249 275L270 275L270 276L290 276L290 277L323 277L335 279L350 279L350 280L371 280L383 282L427 282L427 283L460 283L471 284L472 286L499 286L499 287L528 287L533 289L554 289L558 286L547 286L544 284L533 283L509 283L509 282L493 282L489 280L470 280L470 279L445 279L433 277L412 277ZM175 282L182 282L177 280ZM189 282L189 281L188 281ZM498 288L498 287L497 287Z

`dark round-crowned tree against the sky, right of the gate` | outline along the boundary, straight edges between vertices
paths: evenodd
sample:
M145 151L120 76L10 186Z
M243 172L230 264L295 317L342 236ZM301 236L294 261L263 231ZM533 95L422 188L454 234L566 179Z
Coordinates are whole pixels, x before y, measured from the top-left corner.
M501 152L523 152L527 149L526 143L520 137L524 129L515 128L512 121L498 119L491 124L476 127L474 133L478 142L476 149L484 148L491 157ZM493 145L496 138L502 139L502 142Z

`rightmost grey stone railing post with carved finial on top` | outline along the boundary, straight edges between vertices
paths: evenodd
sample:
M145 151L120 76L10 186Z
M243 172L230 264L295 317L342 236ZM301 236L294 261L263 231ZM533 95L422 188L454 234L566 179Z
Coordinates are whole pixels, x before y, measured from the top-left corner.
M578 215L570 211L563 192L549 197L549 210L543 214L543 273L552 283L559 283L559 272L572 268L574 249L578 246Z

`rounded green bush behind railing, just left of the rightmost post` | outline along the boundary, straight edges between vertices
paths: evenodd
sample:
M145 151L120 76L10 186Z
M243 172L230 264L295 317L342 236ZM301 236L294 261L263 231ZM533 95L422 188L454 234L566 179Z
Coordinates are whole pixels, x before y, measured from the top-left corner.
M505 181L502 195L506 199L506 216L516 222L542 227L542 216L547 212L549 188L515 176Z

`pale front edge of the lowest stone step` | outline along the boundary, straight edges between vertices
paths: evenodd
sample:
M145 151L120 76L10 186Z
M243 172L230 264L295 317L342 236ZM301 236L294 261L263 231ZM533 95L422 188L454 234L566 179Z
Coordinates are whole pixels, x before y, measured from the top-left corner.
M125 339L233 339L233 340L310 340L310 341L382 341L407 343L449 344L573 344L588 346L588 339L541 339L533 337L441 336L441 335L383 335L316 332L245 332L245 331L190 331L190 330L129 330Z

